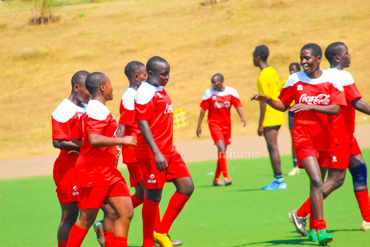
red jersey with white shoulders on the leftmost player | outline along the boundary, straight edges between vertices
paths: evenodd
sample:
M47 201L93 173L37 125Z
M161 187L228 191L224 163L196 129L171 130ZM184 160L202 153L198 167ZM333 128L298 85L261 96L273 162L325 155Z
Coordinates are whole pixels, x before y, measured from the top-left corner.
M52 138L61 140L72 140L72 129L78 122L79 116L85 111L86 104L82 107L76 106L69 99L64 99L51 115L53 129ZM60 150L59 155L67 154L69 150Z

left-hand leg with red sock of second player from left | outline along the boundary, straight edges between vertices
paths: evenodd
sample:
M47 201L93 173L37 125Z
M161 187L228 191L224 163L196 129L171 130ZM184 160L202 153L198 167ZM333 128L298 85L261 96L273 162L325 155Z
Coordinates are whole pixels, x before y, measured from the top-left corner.
M96 209L80 209L79 218L73 225L67 247L80 247L89 228L93 225L99 208Z

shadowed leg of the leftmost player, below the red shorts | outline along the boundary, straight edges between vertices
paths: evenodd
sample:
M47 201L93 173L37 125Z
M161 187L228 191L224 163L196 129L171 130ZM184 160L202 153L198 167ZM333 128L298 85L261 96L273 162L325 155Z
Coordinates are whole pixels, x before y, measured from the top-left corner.
M58 247L66 247L70 231L78 217L77 202L63 203L60 205L62 217L58 228Z

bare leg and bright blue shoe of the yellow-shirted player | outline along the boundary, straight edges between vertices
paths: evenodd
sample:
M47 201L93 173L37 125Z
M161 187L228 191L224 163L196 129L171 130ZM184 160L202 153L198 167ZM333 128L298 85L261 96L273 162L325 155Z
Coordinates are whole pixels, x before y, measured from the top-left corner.
M281 172L280 154L277 145L277 136L279 126L265 127L263 129L264 138L267 143L267 150L270 155L270 161L274 172L274 181L267 186L262 187L262 190L277 190L286 189L287 184L284 181L284 176Z

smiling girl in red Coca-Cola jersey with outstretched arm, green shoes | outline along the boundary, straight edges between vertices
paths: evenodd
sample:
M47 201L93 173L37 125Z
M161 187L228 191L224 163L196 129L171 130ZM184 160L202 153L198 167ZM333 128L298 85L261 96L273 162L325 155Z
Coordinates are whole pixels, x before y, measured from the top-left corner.
M298 167L306 170L310 178L310 198L315 220L313 229L320 245L333 240L326 230L323 219L323 178L320 167L332 162L335 148L333 117L340 106L346 106L343 87L331 73L320 70L321 47L306 44L300 51L303 71L288 78L276 101L263 94L255 94L251 100L266 102L279 111L286 111L295 100L290 111L296 113L293 128L293 144L296 149Z

